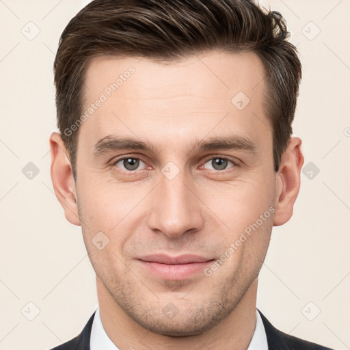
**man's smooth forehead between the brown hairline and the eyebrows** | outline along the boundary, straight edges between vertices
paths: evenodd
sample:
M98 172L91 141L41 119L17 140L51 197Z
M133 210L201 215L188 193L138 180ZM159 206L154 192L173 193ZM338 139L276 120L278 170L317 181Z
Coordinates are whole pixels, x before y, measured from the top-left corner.
M107 135L129 135L166 138L171 145L193 131L198 138L229 129L253 138L265 129L266 135L264 73L255 53L210 52L169 64L146 57L93 59L79 143L83 138L89 147Z

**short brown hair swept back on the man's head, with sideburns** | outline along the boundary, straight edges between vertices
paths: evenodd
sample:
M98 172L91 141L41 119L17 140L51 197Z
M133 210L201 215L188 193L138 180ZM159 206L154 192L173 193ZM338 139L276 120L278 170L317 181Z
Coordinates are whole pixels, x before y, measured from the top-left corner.
M94 57L142 56L173 62L221 50L252 51L265 66L265 111L273 131L278 171L292 134L301 63L288 42L286 21L253 0L94 0L64 29L55 57L57 126L70 154L75 179L85 72ZM70 133L65 133L70 130Z

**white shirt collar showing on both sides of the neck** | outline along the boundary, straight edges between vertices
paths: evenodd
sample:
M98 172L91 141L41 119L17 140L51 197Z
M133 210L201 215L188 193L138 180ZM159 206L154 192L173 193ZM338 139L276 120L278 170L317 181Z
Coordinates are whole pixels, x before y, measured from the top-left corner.
M258 310L256 310L256 327L253 338L247 350L268 350L264 324ZM97 308L94 321L92 322L90 336L90 350L120 350L109 339L100 319L100 310Z

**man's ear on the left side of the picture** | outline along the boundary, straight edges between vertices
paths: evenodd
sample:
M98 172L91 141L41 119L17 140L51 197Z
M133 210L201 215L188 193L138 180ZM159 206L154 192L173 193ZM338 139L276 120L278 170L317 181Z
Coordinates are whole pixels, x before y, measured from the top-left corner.
M66 146L59 133L52 133L51 148L51 179L56 197L64 208L66 219L74 225L80 225L77 189L72 174L72 166Z

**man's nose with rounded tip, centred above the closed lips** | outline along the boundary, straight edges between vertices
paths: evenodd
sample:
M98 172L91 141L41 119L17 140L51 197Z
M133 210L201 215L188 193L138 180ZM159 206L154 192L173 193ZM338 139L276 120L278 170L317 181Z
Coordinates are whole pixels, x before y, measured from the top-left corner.
M204 208L198 190L183 172L172 180L161 176L153 192L148 216L151 230L176 238L203 228Z

